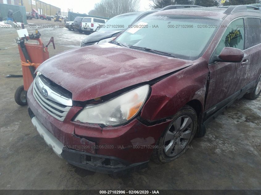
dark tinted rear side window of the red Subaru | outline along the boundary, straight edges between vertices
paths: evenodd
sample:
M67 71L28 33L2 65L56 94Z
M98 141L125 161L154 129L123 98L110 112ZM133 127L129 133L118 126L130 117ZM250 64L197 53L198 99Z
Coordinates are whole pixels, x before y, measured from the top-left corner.
M246 18L246 22L246 47L249 48L261 43L261 22L260 18Z

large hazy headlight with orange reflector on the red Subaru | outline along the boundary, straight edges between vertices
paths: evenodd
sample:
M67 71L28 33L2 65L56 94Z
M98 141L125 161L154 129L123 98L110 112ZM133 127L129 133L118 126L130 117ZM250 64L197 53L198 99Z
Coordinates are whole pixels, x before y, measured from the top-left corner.
M112 100L98 105L86 105L74 121L118 125L132 119L141 110L149 93L149 85L128 91Z

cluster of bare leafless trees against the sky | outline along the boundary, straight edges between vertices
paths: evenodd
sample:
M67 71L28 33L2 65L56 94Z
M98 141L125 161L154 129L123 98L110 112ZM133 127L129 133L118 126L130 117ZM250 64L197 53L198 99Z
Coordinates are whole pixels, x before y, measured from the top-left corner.
M89 14L112 18L119 14L137 11L139 3L140 0L101 0L95 4Z

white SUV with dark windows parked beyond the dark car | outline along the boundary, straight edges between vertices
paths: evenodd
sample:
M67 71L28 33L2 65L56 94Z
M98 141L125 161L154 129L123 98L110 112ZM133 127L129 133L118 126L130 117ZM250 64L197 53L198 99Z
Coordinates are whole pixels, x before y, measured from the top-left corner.
M99 26L103 25L106 21L106 19L101 18L84 17L82 19L81 30L86 34L95 32L96 29L98 29Z

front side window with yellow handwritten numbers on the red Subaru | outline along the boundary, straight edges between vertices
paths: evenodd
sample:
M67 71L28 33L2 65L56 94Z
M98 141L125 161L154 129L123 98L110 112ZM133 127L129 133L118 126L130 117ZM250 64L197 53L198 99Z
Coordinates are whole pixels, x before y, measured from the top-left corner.
M244 50L245 46L245 30L243 18L237 19L229 24L225 34L221 38L217 46L217 55L219 55L224 47L234 47Z

